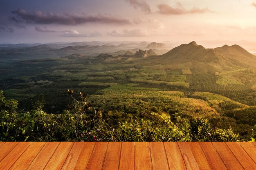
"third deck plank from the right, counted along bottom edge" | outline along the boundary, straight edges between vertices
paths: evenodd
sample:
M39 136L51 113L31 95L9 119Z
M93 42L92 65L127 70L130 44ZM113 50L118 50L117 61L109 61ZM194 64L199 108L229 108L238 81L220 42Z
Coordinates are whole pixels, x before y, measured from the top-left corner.
M227 167L221 160L218 152L215 150L211 142L200 142L199 144L213 170L227 170Z

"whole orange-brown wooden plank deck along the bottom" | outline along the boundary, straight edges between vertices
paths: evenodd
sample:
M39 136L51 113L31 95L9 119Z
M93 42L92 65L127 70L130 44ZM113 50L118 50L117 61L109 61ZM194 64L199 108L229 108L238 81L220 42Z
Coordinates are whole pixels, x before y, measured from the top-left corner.
M256 170L256 144L0 142L0 170Z

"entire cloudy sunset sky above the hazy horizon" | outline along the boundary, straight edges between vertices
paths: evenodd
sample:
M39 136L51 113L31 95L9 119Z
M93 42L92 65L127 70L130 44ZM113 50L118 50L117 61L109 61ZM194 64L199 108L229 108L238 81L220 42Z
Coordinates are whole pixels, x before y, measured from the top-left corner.
M255 41L256 0L0 0L0 44Z

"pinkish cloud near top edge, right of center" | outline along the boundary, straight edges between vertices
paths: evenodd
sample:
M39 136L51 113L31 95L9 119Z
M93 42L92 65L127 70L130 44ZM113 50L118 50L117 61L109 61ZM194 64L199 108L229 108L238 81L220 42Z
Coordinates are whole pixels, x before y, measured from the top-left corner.
M208 8L199 9L197 7L194 7L191 10L186 10L180 3L178 3L177 7L175 7L175 8L170 7L167 4L159 4L159 5L157 5L157 8L158 8L158 11L157 11L158 13L165 14L165 15L182 15L182 14L186 14L186 13L210 12L210 10Z

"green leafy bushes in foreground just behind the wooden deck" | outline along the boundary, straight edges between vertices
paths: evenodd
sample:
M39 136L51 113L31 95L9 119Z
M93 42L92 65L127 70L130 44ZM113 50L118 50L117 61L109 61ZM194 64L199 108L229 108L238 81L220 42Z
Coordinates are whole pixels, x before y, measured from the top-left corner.
M151 112L144 118L119 121L95 110L87 96L66 92L73 102L62 114L47 114L41 107L29 112L18 112L17 101L6 100L0 91L1 141L238 141L232 129L212 128L205 118L189 121L179 114ZM116 123L118 122L118 123ZM255 140L255 130L251 140Z

